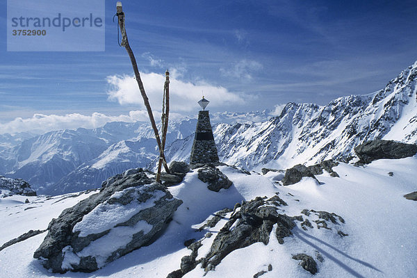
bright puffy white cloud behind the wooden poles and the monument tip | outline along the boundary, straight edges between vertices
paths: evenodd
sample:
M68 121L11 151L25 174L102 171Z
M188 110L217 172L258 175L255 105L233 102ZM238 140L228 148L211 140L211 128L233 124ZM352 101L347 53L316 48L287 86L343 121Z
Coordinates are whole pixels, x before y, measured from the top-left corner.
M152 72L141 74L141 79L152 109L161 110L165 76ZM107 82L111 87L107 92L109 99L118 101L122 105L137 104L141 109L145 109L138 83L133 76L108 76ZM170 79L170 109L173 112L195 111L199 108L197 101L202 98L203 94L206 99L211 101L211 107L215 108L245 104L242 97L234 92L229 92L224 87L213 86L204 81L195 84L175 78Z

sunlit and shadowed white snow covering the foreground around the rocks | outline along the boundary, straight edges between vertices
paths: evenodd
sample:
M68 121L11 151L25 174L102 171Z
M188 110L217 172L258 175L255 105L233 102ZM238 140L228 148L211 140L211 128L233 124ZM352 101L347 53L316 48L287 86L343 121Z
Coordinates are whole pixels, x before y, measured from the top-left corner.
M206 277L253 277L265 270L261 278L313 277L291 259L293 254L306 253L316 258L315 277L415 277L417 273L417 202L405 199L404 194L417 191L417 157L400 160L379 160L365 167L341 163L334 170L340 178L327 172L317 176L320 184L304 178L292 186L280 186L275 181L281 173L247 176L231 167L220 167L234 185L219 193L207 189L197 178L197 172L187 174L178 186L169 188L174 197L183 200L164 234L152 245L142 247L121 259L109 263L93 273L67 272L63 275L45 270L33 259L46 233L34 236L0 251L0 277L163 277L179 269L181 257L191 253L183 243L190 238L200 239L207 230L195 231L213 213L222 208L233 208L236 202L256 196L279 197L288 206L282 213L301 215L304 208L328 211L341 215L345 224L334 224L333 229L304 231L300 222L293 236L284 238L280 245L271 234L268 245L255 243L235 250L210 271ZM393 172L393 176L389 175ZM46 229L51 218L88 197L83 194L47 197L13 196L0 199L0 245L30 229ZM65 198L67 197L67 198ZM29 203L25 204L25 199ZM230 215L230 214L229 214ZM229 215L210 228L211 238L202 240L197 259L208 252L215 234ZM313 216L311 216L313 218ZM341 229L348 236L337 234ZM275 229L275 228L274 228ZM272 231L274 233L274 231ZM272 270L268 271L268 265ZM197 265L184 277L202 277L204 270Z

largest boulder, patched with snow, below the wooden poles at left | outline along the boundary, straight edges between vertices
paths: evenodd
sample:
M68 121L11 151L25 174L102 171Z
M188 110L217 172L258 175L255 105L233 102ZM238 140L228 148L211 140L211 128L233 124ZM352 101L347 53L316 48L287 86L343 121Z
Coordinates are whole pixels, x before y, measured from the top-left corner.
M152 243L181 204L142 170L124 172L53 219L33 256L53 272L92 272Z

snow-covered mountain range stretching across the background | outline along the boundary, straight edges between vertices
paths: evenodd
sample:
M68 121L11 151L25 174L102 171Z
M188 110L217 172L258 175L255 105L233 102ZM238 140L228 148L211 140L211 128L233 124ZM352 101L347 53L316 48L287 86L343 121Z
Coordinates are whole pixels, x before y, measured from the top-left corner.
M369 95L334 99L326 106L287 104L281 115L211 115L220 160L247 170L291 167L335 158L349 161L353 148L376 138L417 142L417 63ZM169 161L188 161L197 119L172 122ZM0 174L22 178L39 193L97 188L131 167L154 167L156 142L149 124L111 122L98 129L27 133L0 138Z

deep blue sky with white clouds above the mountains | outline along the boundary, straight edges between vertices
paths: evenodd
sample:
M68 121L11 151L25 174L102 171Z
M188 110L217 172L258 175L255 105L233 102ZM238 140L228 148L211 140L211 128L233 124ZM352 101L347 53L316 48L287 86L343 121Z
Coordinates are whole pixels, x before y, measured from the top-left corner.
M382 89L417 59L415 1L122 2L155 111L166 69L177 81L172 112L194 115L202 94L212 112L289 101L324 105ZM116 1L106 0L104 52L8 52L1 3L0 129L34 114L144 110L129 57L117 44Z

